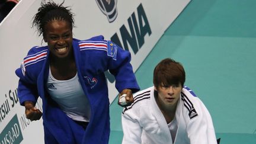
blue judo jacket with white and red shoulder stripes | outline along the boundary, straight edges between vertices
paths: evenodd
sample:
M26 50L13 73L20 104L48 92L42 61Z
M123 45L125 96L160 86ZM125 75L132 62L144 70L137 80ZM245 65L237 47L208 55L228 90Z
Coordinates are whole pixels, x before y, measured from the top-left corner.
M110 116L107 80L104 72L116 78L116 88L139 91L130 53L103 36L88 40L73 39L78 77L91 106L91 119L84 130L58 107L47 93L45 85L49 75L49 50L47 46L32 47L21 67L15 73L20 78L18 98L25 101L43 101L43 126L45 143L108 143Z

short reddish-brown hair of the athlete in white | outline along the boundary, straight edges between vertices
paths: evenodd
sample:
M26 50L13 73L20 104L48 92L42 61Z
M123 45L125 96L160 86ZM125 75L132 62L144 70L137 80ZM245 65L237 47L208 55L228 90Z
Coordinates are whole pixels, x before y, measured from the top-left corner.
M182 87L185 83L185 71L181 63L167 58L156 65L153 71L153 84L156 89L162 84L171 86L179 83L181 83Z

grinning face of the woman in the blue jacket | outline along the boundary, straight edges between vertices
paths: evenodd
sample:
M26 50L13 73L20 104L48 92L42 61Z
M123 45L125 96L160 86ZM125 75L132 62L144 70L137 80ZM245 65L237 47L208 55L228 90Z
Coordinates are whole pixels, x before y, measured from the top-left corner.
M72 51L72 27L64 20L52 20L45 26L44 41L56 58L70 56Z

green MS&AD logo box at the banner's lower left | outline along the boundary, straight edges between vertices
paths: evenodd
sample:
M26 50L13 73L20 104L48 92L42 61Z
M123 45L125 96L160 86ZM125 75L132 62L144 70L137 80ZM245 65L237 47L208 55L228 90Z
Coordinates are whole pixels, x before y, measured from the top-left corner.
M9 121L0 134L0 143L20 143L23 140L17 114Z

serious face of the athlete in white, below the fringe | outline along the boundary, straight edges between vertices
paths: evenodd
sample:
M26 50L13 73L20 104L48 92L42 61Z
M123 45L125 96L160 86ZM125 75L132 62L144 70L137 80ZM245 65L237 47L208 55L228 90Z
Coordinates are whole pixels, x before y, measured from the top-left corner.
M158 89L155 88L158 92L158 104L168 107L177 104L177 101L180 99L180 94L182 90L181 84L178 85L160 85Z

